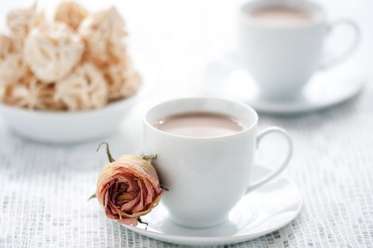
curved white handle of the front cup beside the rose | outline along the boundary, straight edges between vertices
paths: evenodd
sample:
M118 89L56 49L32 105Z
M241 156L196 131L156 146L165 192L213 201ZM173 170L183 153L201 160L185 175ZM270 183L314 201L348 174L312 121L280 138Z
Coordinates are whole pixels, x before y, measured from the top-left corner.
M261 140L270 133L280 133L281 135L283 135L283 137L285 137L286 142L288 142L288 154L286 155L285 160L280 164L279 168L277 168L275 171L272 171L269 175L264 176L264 178L255 181L254 184L250 185L247 188L246 193L249 193L254 188L258 188L259 186L266 184L268 181L271 181L271 179L274 179L274 177L279 175L281 171L283 171L283 169L285 169L288 166L288 163L290 162L291 155L293 154L293 142L291 141L291 137L290 135L288 135L288 132L286 132L286 130L284 130L283 128L266 128L266 130L264 130L258 135L258 142L256 147L259 147Z

